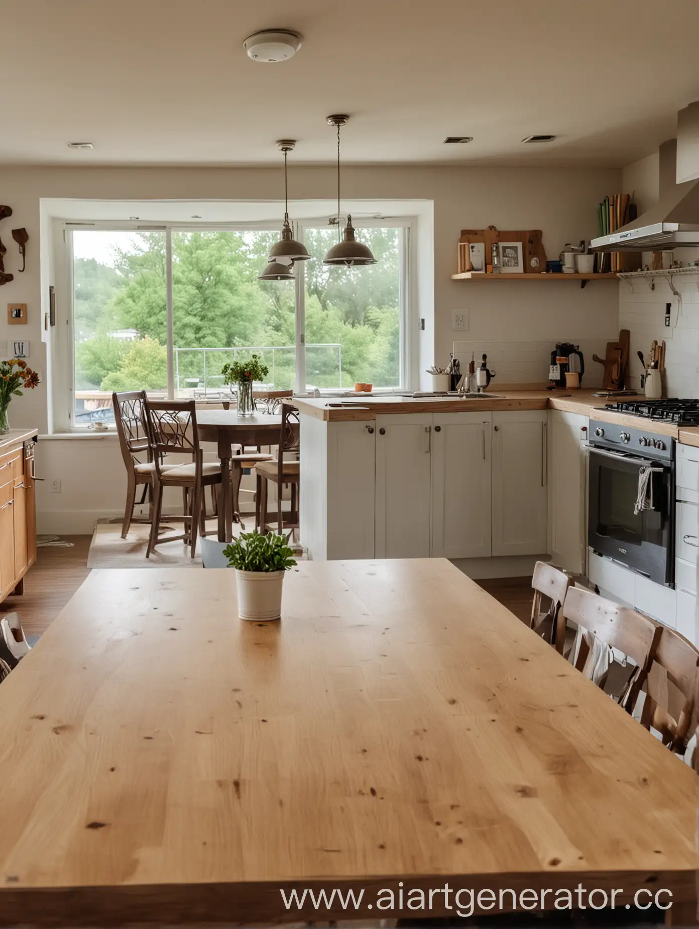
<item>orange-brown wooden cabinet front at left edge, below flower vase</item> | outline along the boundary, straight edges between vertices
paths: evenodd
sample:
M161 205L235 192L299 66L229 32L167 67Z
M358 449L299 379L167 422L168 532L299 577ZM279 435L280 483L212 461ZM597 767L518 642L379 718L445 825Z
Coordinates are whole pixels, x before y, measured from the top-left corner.
M35 560L33 444L27 443L0 456L0 600L17 588Z

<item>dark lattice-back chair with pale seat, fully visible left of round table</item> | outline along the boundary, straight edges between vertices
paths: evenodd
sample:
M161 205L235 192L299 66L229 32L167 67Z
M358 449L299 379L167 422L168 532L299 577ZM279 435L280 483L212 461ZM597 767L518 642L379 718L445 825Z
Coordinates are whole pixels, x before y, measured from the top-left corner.
M221 483L221 464L204 462L197 434L197 411L194 400L144 400L149 442L155 463L153 476L153 512L150 521L150 538L146 557L162 542L183 539L191 547L194 557L197 546L197 529L205 536L204 488ZM163 467L163 454L190 455L191 462ZM166 487L179 487L185 502L183 535L158 539L162 513L162 491ZM223 516L219 509L219 521ZM168 515L168 519L173 519ZM187 531L187 528L189 530ZM213 534L214 530L211 533Z

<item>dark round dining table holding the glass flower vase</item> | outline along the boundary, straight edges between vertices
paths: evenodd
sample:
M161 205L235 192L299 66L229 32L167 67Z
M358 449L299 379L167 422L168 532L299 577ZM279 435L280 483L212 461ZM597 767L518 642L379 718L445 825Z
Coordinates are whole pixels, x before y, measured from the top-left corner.
M198 410L197 435L201 442L214 442L221 461L221 504L218 508L218 541L230 542L233 538L233 477L240 480L242 469L234 468L231 474L233 446L277 445L281 415L255 412L240 416L238 410Z

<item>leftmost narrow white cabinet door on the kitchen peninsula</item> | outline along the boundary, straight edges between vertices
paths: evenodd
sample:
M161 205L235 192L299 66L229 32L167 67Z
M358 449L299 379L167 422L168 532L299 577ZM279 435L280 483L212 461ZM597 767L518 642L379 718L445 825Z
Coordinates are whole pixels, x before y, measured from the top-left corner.
M374 557L376 424L328 424L327 557Z

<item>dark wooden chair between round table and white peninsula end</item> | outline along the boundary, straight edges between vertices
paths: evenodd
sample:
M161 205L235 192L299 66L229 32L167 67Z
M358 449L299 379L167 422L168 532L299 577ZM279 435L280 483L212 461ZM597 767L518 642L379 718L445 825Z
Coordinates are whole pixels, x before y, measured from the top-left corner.
M277 531L295 530L299 527L299 483L301 481L301 463L285 461L284 454L299 450L299 413L289 403L281 405L281 428L277 461L262 462L255 465L257 492L255 494L255 527L261 532L268 532L271 526L267 514L267 484L271 480L277 485ZM291 484L291 512L284 520L281 508L281 489Z

